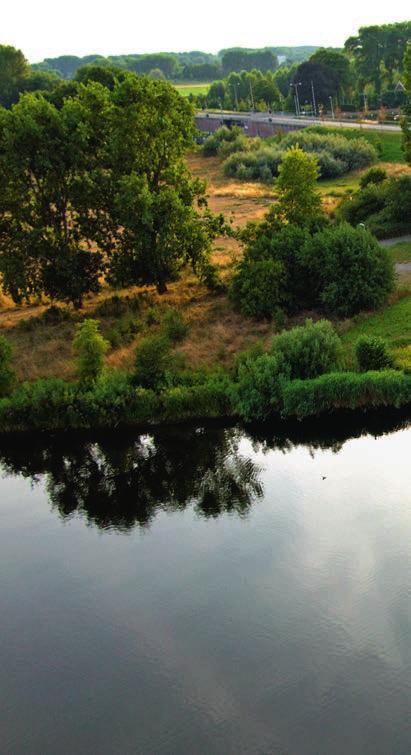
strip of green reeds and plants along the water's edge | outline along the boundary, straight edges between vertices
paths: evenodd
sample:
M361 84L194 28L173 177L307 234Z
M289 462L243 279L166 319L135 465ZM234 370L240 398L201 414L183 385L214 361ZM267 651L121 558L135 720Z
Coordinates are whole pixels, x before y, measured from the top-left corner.
M216 418L252 421L264 415L269 420L274 414L303 419L339 410L399 409L411 406L411 375L382 370L280 379L272 392L263 386L258 393L256 387L247 411L239 391L238 382L223 373L210 375L203 383L159 392L136 387L129 377L117 373L104 375L89 387L39 380L0 400L0 432L139 428ZM254 414L253 406L258 407Z

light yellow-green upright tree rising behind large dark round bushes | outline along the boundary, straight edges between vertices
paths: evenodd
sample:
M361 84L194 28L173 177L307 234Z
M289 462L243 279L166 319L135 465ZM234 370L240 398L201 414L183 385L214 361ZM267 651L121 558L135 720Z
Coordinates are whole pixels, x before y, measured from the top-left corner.
M316 191L319 176L315 155L298 146L290 147L279 167L276 183L278 203L275 213L283 222L305 227L322 214L321 197Z

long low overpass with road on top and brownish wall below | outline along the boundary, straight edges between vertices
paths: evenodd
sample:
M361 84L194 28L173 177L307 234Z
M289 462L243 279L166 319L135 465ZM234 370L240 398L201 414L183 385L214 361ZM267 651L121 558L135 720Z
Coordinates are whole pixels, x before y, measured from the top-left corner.
M391 123L370 123L369 121L321 120L292 113L238 113L226 111L198 111L195 116L197 128L212 134L221 126L240 126L248 136L267 138L279 132L296 131L308 126L329 126L332 128L359 128L367 131L392 131L399 133L400 126Z

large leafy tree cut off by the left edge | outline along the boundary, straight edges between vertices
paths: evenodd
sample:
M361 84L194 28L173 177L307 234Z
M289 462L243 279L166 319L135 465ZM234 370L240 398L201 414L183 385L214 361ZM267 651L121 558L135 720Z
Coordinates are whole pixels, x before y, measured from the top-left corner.
M0 271L15 302L44 293L81 306L99 289L96 202L85 206L108 111L108 90L92 84L60 109L26 94L0 114Z

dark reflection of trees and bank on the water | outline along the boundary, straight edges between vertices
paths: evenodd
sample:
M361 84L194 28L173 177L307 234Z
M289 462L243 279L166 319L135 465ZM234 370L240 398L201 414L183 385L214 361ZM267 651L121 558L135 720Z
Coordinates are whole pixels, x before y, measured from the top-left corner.
M102 529L128 531L147 526L160 510L194 506L201 516L223 512L246 516L263 495L261 468L240 450L246 439L255 450L288 453L305 445L338 452L365 432L380 435L404 427L399 413L354 415L345 422L296 423L276 427L173 427L150 435L113 432L98 440L80 436L0 441L6 474L45 478L50 503L61 516L83 516Z

